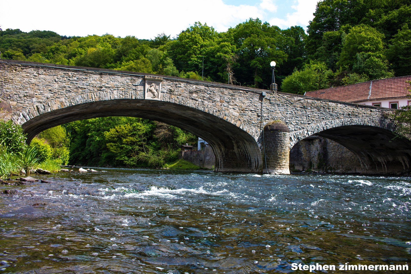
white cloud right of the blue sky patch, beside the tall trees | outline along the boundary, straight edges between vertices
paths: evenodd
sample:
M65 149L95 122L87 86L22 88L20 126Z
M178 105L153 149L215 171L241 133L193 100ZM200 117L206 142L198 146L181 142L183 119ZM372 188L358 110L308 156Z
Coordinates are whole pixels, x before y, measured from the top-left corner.
M271 18L268 23L271 25L277 25L280 28L289 28L294 25L300 25L304 29L307 29L309 21L314 18L316 4L318 0L298 0L298 5L293 5L291 8L296 12L288 13L285 18Z

